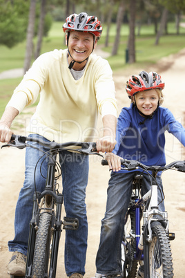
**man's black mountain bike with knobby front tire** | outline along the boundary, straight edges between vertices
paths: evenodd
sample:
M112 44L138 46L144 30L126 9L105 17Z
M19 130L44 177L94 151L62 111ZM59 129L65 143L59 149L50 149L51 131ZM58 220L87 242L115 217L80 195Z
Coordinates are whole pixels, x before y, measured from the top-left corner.
M49 151L43 153L45 159L48 159L46 187L43 192L37 192L37 189L35 189L33 196L25 277L55 278L61 231L63 229L77 230L79 226L77 218L64 217L64 221L61 220L61 207L64 196L58 190L57 179L61 176L61 171L60 165L57 163L57 155L62 150L74 151L72 149L74 146L77 148L75 151L80 154L96 154L99 156L101 154L96 151L95 142L66 142L58 144L55 141L45 142L39 138L17 135L12 135L10 142L2 147L11 146L18 149L34 147L27 143L29 141L48 147ZM36 167L37 165L35 169ZM11 277L18 278L18 276L12 275Z

